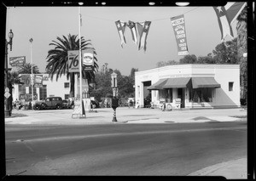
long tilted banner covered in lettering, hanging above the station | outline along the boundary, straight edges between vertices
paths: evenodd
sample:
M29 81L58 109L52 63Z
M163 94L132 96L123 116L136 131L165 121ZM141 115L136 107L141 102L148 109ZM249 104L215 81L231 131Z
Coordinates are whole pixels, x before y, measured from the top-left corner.
M177 42L177 54L186 55L189 54L187 37L185 31L185 19L184 15L178 15L171 18L172 28Z

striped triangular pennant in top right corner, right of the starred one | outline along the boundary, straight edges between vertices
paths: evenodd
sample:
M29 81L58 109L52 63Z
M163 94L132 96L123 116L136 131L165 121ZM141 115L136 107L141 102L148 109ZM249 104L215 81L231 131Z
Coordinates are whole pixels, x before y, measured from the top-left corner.
M237 16L241 14L242 9L246 5L246 2L229 2L224 6L230 20L230 25L236 20Z

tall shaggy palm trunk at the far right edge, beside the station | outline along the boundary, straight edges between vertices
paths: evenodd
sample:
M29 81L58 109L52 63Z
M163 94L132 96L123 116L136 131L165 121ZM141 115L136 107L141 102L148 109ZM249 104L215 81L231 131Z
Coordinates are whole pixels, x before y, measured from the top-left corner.
M247 57L243 57L243 54L247 53L247 7L237 16L237 20L237 57L241 70L241 98L246 99L247 102Z

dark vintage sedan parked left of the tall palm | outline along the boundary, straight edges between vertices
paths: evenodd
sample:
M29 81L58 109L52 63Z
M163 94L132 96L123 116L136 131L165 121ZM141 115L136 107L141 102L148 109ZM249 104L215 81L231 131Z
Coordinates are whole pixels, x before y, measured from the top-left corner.
M56 109L61 110L63 107L61 97L49 97L45 98L44 100L36 101L33 104L34 110L44 110L44 109Z

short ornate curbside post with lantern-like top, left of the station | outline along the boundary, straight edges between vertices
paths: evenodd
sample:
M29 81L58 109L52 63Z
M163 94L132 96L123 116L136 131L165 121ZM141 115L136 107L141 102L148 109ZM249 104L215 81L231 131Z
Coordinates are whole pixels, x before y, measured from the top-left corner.
M113 99L112 99L112 108L113 108L113 120L112 122L117 122L116 119L116 108L119 106L119 99L117 99L117 74L111 74L111 87L113 88Z

